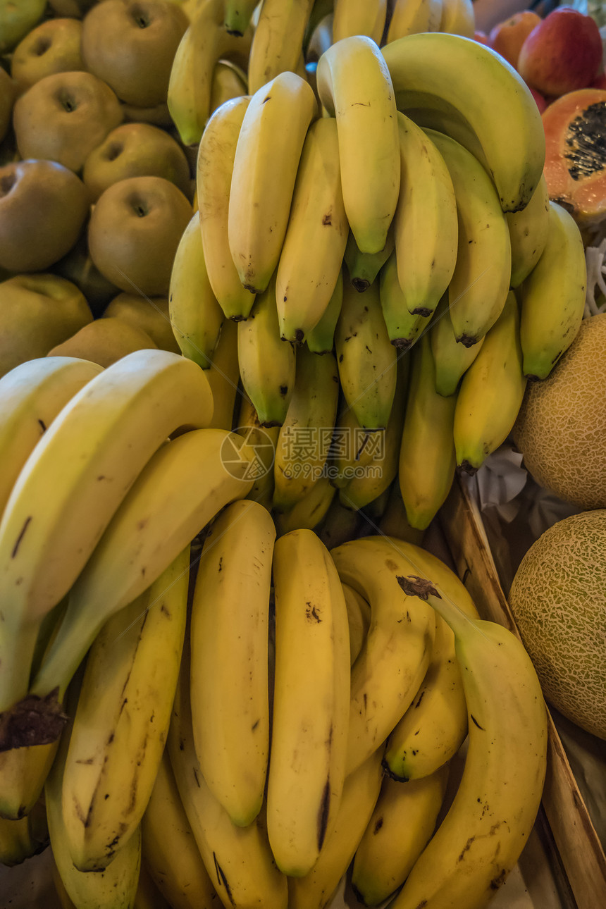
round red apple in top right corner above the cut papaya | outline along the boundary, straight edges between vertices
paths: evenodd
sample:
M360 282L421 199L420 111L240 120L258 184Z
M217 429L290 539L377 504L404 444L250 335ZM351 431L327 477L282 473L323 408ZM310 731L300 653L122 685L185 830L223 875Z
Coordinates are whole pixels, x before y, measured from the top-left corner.
M518 72L541 95L560 97L587 88L601 70L600 29L591 15L559 6L527 36Z

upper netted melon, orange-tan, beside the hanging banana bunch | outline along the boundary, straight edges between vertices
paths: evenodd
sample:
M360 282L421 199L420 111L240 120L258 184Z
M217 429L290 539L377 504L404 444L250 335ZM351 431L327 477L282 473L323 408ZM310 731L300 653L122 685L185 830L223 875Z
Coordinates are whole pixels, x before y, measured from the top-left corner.
M526 386L512 437L538 484L606 508L606 313L584 319L551 375Z

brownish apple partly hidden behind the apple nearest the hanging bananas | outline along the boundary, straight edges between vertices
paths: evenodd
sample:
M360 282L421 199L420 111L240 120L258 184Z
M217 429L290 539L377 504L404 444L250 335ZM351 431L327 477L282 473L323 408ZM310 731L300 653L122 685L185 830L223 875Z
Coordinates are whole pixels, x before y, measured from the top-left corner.
M108 186L129 176L164 176L190 195L190 165L184 150L157 126L116 126L84 161L82 178L94 201Z

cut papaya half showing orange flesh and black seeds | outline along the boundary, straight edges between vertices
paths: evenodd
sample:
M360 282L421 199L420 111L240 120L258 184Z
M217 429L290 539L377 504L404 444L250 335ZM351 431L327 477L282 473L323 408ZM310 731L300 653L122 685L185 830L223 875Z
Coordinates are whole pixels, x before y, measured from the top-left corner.
M606 217L606 89L561 95L542 114L550 198L581 228Z

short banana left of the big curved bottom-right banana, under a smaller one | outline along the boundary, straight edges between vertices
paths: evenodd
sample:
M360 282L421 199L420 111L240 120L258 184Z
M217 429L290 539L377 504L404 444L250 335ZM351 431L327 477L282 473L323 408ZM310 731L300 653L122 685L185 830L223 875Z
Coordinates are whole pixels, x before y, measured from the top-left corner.
M410 783L383 776L373 815L353 857L352 887L360 903L380 905L404 883L432 837L447 780L446 764Z

